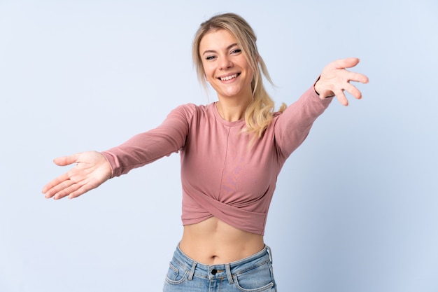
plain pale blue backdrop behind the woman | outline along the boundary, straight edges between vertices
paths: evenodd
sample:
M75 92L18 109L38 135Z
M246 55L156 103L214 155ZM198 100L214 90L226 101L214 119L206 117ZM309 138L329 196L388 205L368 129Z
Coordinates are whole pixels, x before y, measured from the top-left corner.
M53 158L215 101L190 54L222 12L255 29L277 106L339 58L370 80L278 177L278 290L438 291L437 1L0 0L1 292L161 291L182 234L178 154L76 200L41 189L69 169Z

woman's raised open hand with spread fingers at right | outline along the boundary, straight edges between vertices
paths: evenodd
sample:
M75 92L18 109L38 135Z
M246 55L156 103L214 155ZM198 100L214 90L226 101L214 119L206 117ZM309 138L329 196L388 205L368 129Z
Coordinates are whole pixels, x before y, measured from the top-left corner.
M341 104L348 106L348 99L344 94L344 90L346 90L353 97L361 99L362 93L350 81L368 83L368 77L346 69L355 67L358 63L358 58L347 58L327 64L314 87L320 98L324 99L336 95Z

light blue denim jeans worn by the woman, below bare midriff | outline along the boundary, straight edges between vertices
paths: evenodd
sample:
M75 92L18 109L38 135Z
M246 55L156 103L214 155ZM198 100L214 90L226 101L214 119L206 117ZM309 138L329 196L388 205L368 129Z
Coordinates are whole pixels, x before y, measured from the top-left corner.
M177 246L163 292L276 292L269 246L253 256L222 265L203 265Z

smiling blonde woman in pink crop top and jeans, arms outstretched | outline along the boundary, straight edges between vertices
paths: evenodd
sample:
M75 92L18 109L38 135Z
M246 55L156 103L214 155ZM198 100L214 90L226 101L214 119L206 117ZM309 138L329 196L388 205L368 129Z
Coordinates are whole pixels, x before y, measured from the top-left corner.
M368 79L346 71L358 59L337 60L297 102L274 113L262 84L262 74L270 79L255 34L239 15L225 13L202 23L192 52L199 79L216 90L218 102L178 106L159 127L108 151L56 158L57 165L76 167L43 193L78 197L179 151L184 228L164 291L276 291L263 235L278 173L332 97L347 105L347 90L360 99L349 81Z

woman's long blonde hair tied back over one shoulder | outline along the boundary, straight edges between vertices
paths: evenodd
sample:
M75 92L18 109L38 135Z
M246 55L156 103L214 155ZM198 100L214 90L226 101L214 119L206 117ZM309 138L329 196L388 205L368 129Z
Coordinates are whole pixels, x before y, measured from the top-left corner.
M251 69L254 71L253 81L251 81L253 101L248 105L245 111L245 122L247 127L246 132L254 133L253 139L260 138L264 130L266 130L271 123L272 114L274 112L274 100L269 97L269 94L264 89L262 74L269 83L273 84L273 82L269 76L266 64L264 64L262 57L258 53L256 45L257 37L253 29L248 25L248 22L241 18L241 16L234 13L224 13L215 15L200 25L195 34L192 47L192 58L197 70L199 82L206 88L205 71L199 53L199 44L205 34L218 29L225 29L234 36L248 64L250 64ZM283 112L285 109L286 105L283 103L279 111Z

